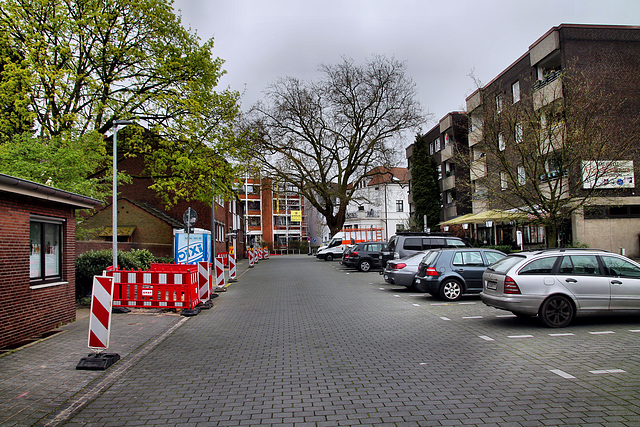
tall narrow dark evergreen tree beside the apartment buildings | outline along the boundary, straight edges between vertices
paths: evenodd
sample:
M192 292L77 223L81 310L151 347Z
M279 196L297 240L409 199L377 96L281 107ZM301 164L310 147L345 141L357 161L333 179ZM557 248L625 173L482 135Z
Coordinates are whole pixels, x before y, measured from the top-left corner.
M433 156L429 155L428 143L425 136L416 136L413 145L413 159L411 162L411 195L413 197L414 212L410 227L414 231L424 229L424 216L427 215L427 225L435 227L440 222L442 195L438 186L438 165Z

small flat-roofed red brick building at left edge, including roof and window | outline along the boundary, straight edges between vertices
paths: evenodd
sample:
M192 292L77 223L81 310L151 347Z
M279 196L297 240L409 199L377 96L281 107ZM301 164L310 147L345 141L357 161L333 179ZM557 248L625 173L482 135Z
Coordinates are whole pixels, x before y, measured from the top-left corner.
M75 209L100 203L0 174L0 348L75 320Z

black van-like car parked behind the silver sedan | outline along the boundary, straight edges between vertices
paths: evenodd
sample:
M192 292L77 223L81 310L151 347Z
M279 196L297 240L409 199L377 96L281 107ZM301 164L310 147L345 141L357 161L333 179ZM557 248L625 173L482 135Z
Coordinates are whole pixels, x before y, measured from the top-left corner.
M402 259L421 251L439 248L471 247L459 237L448 234L398 233L389 239L387 249L382 252L383 264L391 259Z

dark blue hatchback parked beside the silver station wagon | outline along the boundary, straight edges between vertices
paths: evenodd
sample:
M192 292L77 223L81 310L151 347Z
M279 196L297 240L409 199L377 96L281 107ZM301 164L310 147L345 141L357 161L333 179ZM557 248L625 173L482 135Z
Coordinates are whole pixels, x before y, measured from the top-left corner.
M432 250L420 262L415 287L447 301L460 299L466 293L479 293L487 266L505 256L482 248Z

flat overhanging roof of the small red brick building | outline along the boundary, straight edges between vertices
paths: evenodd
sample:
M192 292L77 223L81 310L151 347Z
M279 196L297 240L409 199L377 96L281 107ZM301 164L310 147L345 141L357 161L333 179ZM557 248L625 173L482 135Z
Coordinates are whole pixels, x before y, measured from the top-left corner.
M102 200L5 174L0 174L0 191L41 200L49 200L74 208L88 209L102 204Z

